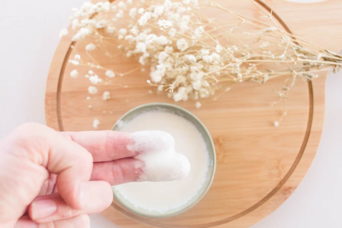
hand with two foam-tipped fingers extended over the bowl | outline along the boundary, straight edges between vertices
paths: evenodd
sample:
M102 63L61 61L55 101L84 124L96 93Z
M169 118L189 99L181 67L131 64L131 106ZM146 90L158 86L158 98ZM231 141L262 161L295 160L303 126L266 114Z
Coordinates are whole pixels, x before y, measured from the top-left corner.
M110 185L142 173L129 143L123 132L20 126L0 141L0 227L90 227L88 214L113 200Z

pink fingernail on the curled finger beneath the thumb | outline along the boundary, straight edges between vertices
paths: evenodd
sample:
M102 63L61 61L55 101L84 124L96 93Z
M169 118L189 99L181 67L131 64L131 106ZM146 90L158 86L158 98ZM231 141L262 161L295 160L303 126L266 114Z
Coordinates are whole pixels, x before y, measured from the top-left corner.
M57 210L57 205L55 201L50 199L39 199L31 204L32 207L32 217L34 219L45 218Z

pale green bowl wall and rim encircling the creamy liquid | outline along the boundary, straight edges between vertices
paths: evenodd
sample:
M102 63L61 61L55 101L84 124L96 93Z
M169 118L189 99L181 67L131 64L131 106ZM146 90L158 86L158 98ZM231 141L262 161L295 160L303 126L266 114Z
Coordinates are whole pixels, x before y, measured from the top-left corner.
M166 218L166 217L175 216L175 215L178 215L178 214L181 214L181 213L187 211L188 209L193 207L196 203L198 203L203 198L203 196L206 195L207 191L210 188L210 185L213 181L214 174L215 174L216 154L215 154L215 147L214 147L213 140L212 140L210 133L207 130L206 126L194 114L192 114L188 110L181 108L179 106L176 106L176 105L172 105L172 104L148 103L148 104L144 104L141 106L137 106L137 107L131 109L130 111L126 112L116 122L116 124L113 126L113 128L111 130L120 131L120 126L122 126L121 124L131 121L133 118L135 118L136 116L139 116L143 112L153 111L153 110L161 110L161 111L171 112L171 113L179 115L179 116L185 118L186 120L190 121L191 123L193 123L196 126L197 130L201 133L201 135L202 135L202 137L206 143L207 150L209 153L209 164L208 164L209 167L208 167L208 172L207 172L205 182L203 183L201 189L198 191L198 194L196 196L194 196L192 199L190 199L186 204L181 205L180 207L170 209L170 210L167 210L165 212L149 211L149 210L143 209L142 207L137 207L133 203L131 203L130 201L126 200L120 194L120 192L115 189L115 186L113 186L114 198L123 207L125 207L127 210L129 210L129 211L131 211L137 215L144 216L144 217Z

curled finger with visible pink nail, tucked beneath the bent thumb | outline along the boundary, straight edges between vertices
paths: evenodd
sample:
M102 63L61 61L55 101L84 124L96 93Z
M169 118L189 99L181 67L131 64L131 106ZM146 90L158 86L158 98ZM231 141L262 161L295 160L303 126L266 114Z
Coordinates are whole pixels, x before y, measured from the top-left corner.
M104 181L90 181L83 183L87 192L89 204L76 210L68 206L58 193L37 197L28 207L28 214L37 223L47 223L54 220L67 219L80 214L94 214L106 209L113 201L111 186Z

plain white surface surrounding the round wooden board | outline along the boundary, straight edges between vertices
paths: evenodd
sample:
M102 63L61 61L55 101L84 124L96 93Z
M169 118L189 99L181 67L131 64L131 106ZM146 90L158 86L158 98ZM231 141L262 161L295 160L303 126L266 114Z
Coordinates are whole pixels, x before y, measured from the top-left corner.
M1 1L0 138L21 123L45 123L45 83L60 40L58 33L69 24L69 9L83 1ZM341 85L342 73L329 74L323 135L303 182L285 203L253 228L342 227ZM91 216L91 225L117 227L101 215Z

